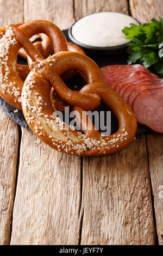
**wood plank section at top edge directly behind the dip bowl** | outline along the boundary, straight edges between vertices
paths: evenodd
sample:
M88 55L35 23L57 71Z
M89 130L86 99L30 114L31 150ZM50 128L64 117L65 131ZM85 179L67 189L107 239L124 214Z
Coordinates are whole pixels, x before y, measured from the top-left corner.
M100 11L116 11L117 13L128 14L127 0L74 0L74 6L74 17L76 20L85 15Z

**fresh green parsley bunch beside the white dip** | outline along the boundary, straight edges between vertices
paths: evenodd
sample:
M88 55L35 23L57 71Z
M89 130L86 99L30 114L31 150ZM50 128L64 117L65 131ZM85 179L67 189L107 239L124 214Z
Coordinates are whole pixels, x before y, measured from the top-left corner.
M163 19L152 19L151 23L139 26L130 25L122 30L126 38L132 40L127 49L128 64L139 62L147 69L154 68L163 77Z

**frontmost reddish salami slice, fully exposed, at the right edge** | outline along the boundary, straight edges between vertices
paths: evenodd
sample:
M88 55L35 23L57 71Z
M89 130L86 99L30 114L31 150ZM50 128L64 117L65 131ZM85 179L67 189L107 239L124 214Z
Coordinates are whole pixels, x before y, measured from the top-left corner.
M137 121L163 133L163 88L143 90L133 102Z

